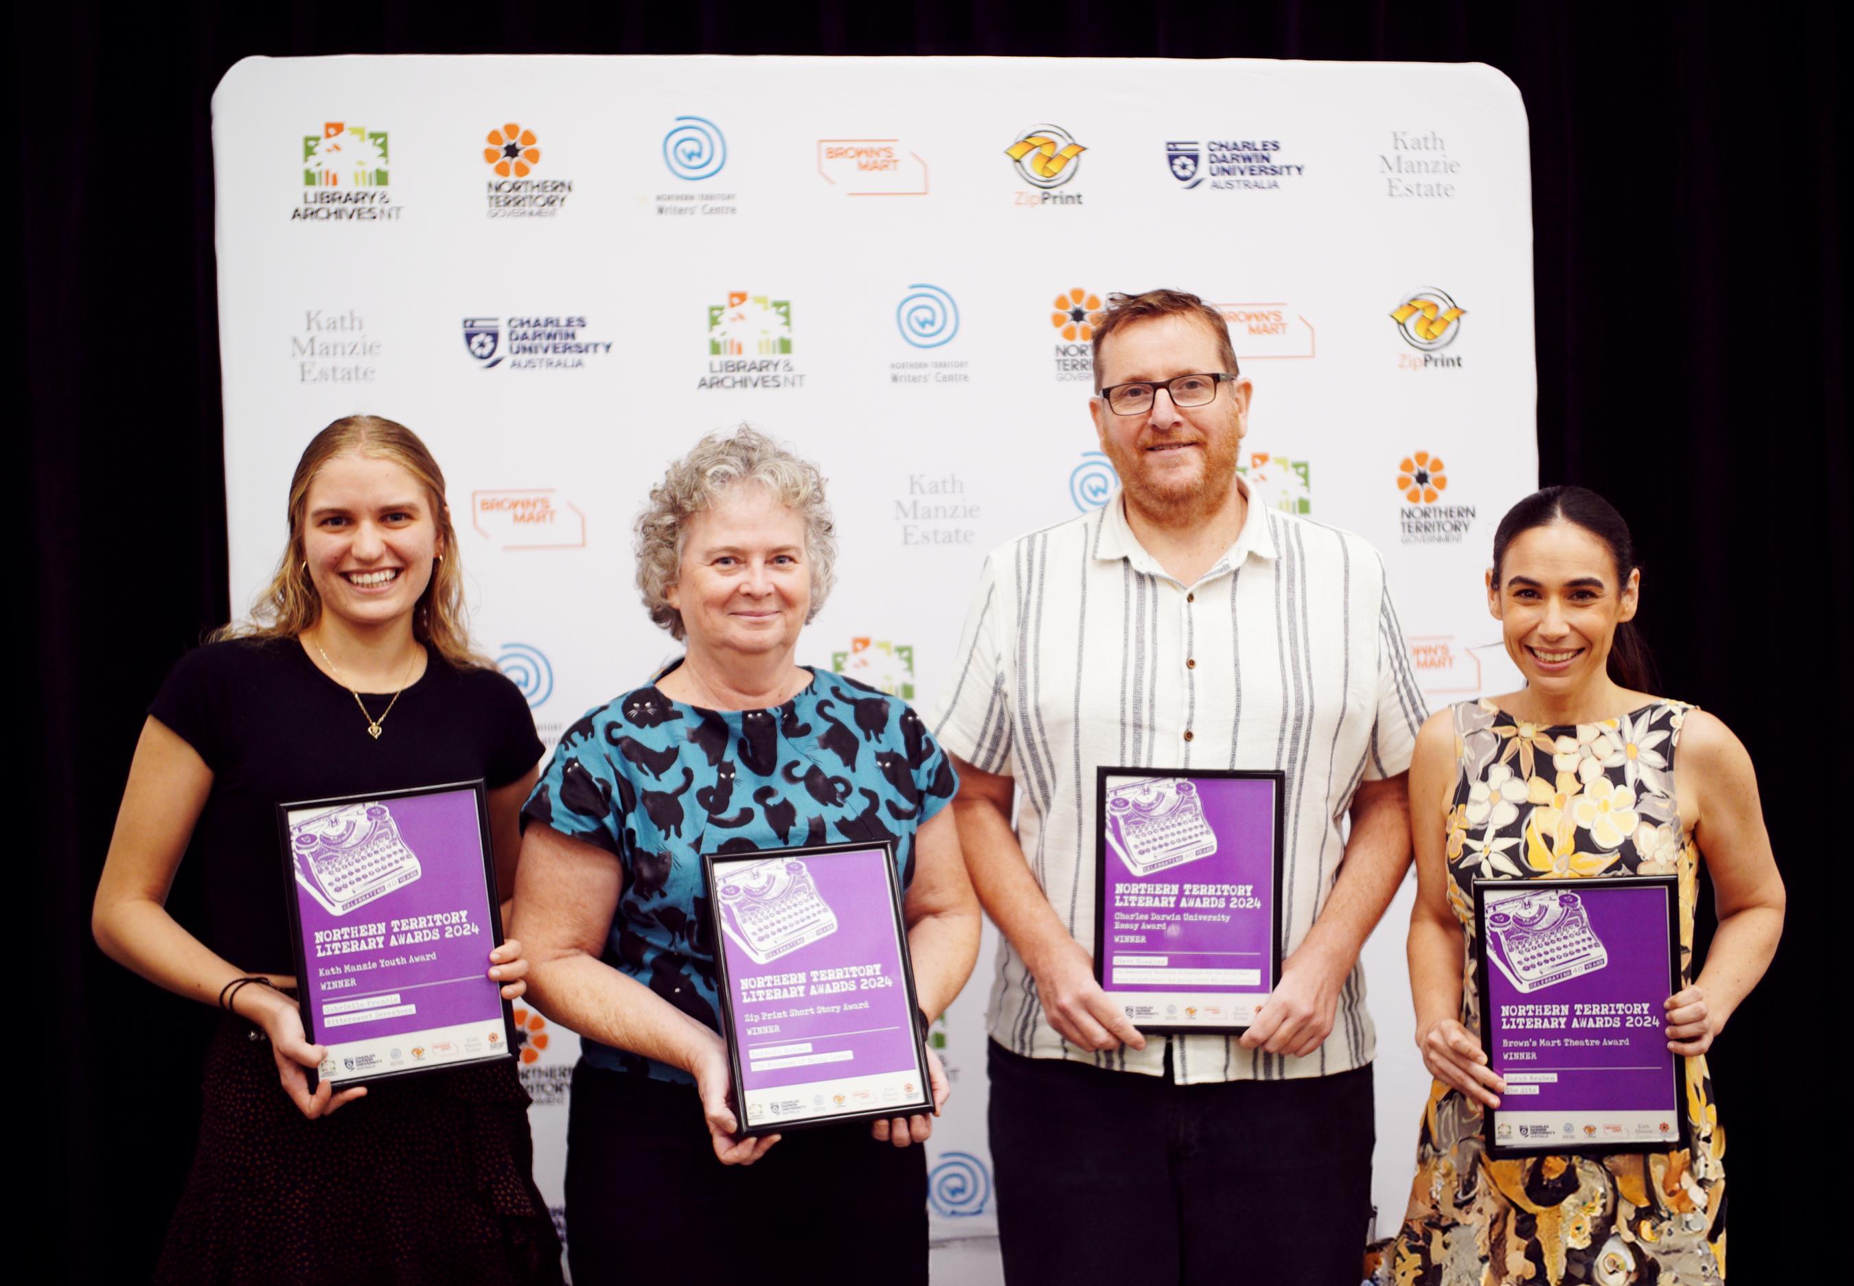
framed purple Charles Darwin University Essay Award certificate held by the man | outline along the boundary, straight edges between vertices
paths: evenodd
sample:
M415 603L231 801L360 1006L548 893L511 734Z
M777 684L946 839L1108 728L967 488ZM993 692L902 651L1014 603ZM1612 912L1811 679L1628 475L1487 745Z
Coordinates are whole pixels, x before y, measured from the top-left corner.
M1281 977L1276 771L1096 773L1094 977L1142 1032L1240 1032Z

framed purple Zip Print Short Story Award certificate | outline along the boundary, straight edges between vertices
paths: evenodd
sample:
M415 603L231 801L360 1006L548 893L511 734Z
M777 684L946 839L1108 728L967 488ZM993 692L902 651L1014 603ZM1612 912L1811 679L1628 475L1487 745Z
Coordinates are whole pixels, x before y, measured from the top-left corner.
M933 1112L894 845L705 854L743 1134Z

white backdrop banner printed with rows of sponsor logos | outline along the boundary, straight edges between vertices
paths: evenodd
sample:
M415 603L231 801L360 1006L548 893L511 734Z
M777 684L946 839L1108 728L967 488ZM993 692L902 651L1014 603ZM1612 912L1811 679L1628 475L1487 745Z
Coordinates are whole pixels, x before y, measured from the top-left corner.
M247 59L213 152L232 602L274 567L308 437L410 424L476 641L549 743L673 654L630 523L667 460L742 421L831 480L838 587L799 660L931 704L984 552L1111 495L1088 313L1159 285L1229 319L1257 498L1383 552L1431 704L1517 678L1481 573L1537 484L1531 193L1489 67ZM1428 1091L1407 910L1409 884L1366 947L1381 1225ZM996 1229L994 949L988 927L934 1028L936 1236ZM521 1019L558 1219L578 1041Z

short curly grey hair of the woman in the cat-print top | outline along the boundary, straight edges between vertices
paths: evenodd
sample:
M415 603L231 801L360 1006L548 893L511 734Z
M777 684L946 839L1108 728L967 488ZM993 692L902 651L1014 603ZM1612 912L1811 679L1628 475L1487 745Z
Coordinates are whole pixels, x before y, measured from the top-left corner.
M758 482L788 510L805 519L805 558L812 574L806 623L816 619L836 580L836 528L823 498L823 474L777 441L742 424L732 434L708 434L669 465L664 480L638 513L638 589L651 621L682 639L682 613L669 606L669 586L682 569L688 521L712 508L729 487Z

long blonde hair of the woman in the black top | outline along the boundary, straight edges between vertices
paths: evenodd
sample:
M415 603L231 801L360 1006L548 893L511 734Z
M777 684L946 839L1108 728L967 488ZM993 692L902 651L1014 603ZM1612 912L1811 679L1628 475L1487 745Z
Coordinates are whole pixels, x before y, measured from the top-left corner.
M297 461L297 473L289 480L289 545L276 565L276 574L252 602L250 621L234 621L213 630L213 641L293 639L321 621L323 597L304 569L302 526L308 519L310 484L330 460L350 454L389 460L430 493L432 521L438 524L443 558L434 561L432 580L412 611L413 637L436 649L451 665L488 667L489 662L471 649L469 626L464 621L464 565L458 558L456 530L451 526L451 508L445 504L445 474L417 434L378 415L345 415L302 448L302 460Z

